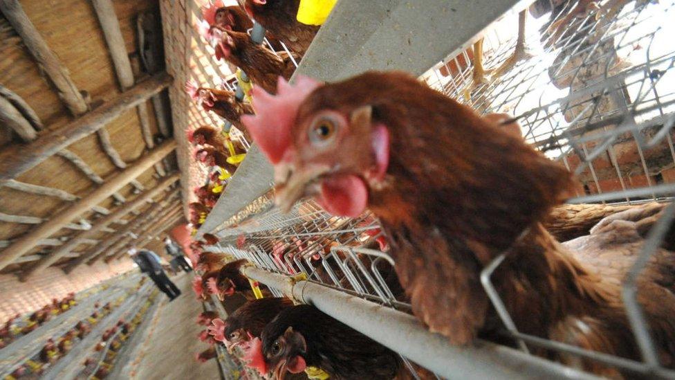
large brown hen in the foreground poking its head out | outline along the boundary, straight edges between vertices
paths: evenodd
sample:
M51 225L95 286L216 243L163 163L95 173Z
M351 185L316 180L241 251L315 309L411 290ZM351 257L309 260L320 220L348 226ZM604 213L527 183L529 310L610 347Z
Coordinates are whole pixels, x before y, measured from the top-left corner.
M432 332L467 344L503 329L479 278L502 257L491 281L520 332L640 359L620 287L542 226L568 196L571 174L521 138L404 73L298 80L254 101L257 115L243 122L275 165L279 207L305 195L334 215L368 207L414 314ZM643 280L638 299L662 364L673 367L675 295ZM617 375L589 359L550 356Z

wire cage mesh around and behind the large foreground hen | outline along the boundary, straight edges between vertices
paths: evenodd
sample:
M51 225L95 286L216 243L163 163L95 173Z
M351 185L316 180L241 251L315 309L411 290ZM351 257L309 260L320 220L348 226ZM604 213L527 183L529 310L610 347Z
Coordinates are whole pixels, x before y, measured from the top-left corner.
M517 15L497 21L483 35L486 80L473 83L471 48L447 57L420 80L481 114L515 116L528 143L576 175L571 203L669 200L675 190L675 45L670 41L675 1L608 0L575 9L578 3L529 17L524 60L499 75L494 68L517 44ZM660 367L635 298L636 276L674 215L675 208L668 207L623 285L642 362L519 333L490 283L501 255L486 266L481 280L508 330L504 334L525 352L544 347L636 373L675 377ZM214 232L221 240L210 251L277 273L304 273L311 282L410 311L378 221L369 213L334 217L305 200L281 214L270 190Z

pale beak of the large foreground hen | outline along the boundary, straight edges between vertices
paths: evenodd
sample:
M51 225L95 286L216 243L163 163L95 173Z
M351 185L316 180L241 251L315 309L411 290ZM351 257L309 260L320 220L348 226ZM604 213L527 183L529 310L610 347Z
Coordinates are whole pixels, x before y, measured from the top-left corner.
M293 165L279 163L275 166L275 203L281 212L289 212L296 201L308 193L308 187L330 171L324 165L313 165L294 170Z

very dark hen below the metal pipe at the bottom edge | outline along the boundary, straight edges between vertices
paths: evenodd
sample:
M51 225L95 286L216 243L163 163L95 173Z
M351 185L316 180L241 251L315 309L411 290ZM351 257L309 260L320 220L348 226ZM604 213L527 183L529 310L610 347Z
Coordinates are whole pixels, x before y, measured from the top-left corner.
M395 352L310 305L282 310L243 347L252 368L277 380L307 367L344 380L391 380L407 371Z

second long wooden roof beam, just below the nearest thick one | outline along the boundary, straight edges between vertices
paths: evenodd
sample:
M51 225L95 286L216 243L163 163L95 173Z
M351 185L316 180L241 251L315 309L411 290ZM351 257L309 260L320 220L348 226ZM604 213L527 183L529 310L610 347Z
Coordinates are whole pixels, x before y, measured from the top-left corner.
M30 251L40 239L44 239L45 237L49 237L53 233L56 233L71 220L90 210L92 206L97 205L107 197L111 196L113 192L126 186L131 179L135 179L142 174L142 172L151 168L154 163L163 159L167 154L173 152L174 149L176 149L176 142L174 140L168 140L162 145L158 145L158 147L149 152L149 154L136 160L129 168L113 175L110 181L106 183L106 186L93 190L93 192L89 193L86 197L73 203L71 207L57 213L57 215L52 217L49 221L46 221L26 235L17 239L17 242L0 253L0 270L11 264L17 257L21 257L24 253Z

